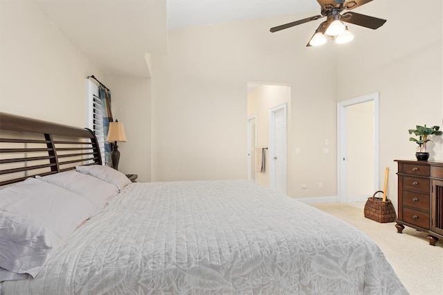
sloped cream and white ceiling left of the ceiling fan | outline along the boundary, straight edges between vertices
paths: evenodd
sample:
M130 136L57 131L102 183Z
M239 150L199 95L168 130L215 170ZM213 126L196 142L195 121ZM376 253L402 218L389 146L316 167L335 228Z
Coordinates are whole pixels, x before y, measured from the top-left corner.
M142 77L145 53L167 53L168 28L320 12L316 0L33 1L104 75Z

